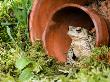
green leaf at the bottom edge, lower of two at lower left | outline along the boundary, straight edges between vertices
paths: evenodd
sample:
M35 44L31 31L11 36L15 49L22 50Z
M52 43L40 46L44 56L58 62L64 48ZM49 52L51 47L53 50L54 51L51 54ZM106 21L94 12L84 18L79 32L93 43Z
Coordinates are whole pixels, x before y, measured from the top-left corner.
M32 77L32 69L31 68L26 68L19 75L19 80L21 82L24 82L24 81L28 81L31 77Z

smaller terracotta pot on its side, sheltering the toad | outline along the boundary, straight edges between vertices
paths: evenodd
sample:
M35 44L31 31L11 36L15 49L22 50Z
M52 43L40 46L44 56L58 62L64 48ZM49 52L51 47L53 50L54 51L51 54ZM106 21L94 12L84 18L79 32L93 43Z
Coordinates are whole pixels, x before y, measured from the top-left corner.
M49 56L55 57L59 62L65 62L71 39L67 35L69 25L96 30L96 46L108 45L108 27L103 19L94 10L77 4L63 4L55 8L46 22L43 33L43 45Z

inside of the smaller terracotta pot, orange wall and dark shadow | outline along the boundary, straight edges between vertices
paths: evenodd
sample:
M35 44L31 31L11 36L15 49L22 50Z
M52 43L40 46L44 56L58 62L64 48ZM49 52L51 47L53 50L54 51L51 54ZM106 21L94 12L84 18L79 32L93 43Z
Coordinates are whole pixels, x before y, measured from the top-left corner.
M50 56L59 61L66 61L66 52L71 45L71 38L67 35L68 27L83 27L88 30L94 28L90 16L76 7L64 7L52 17L46 33L46 49Z

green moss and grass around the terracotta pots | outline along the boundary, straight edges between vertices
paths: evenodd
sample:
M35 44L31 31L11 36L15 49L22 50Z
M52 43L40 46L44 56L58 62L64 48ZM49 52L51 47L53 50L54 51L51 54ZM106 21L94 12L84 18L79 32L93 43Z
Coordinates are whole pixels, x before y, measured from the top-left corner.
M32 0L0 1L0 82L109 82L106 46L74 65L58 64L45 54L41 42L29 42L28 14Z

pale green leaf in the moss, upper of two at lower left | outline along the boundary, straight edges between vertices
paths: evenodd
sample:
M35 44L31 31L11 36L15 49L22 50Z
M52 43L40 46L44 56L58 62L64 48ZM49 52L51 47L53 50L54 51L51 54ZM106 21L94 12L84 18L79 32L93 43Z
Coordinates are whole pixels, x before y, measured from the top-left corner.
M31 61L29 61L28 59L26 59L26 58L20 58L20 59L18 59L16 61L15 66L19 70L22 70L24 67L26 67L30 63L31 63Z

